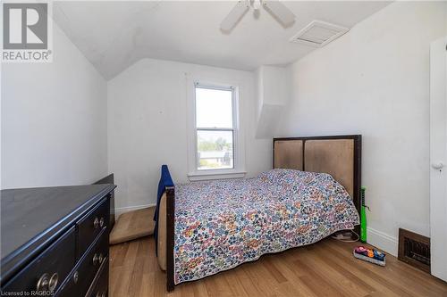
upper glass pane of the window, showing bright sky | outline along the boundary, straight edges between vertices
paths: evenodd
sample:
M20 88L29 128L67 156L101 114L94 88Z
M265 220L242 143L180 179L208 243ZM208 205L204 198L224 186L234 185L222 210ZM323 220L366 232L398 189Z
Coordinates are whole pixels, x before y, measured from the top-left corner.
M196 87L198 128L232 128L232 91Z

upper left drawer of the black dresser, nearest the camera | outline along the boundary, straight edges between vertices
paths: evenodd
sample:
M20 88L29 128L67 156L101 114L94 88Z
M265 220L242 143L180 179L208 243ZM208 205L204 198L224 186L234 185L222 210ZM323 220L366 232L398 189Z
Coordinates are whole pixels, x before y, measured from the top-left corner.
M3 293L56 291L74 267L75 247L72 227L4 285Z

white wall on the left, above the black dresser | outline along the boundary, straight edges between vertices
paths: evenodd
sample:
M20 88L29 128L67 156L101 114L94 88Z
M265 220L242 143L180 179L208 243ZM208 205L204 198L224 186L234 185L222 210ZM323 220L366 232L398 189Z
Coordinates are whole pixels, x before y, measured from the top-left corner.
M2 64L2 188L107 173L106 84L55 25L51 63Z

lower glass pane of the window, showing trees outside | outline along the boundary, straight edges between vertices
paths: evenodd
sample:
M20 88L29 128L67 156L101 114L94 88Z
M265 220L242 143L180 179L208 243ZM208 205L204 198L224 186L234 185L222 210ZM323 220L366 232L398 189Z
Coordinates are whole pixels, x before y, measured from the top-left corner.
M232 131L197 131L198 169L232 169Z

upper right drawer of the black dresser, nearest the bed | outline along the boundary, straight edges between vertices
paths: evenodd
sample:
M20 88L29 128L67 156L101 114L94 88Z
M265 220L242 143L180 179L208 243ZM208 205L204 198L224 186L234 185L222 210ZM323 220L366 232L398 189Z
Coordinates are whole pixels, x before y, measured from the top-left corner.
M78 226L78 255L80 259L97 235L109 225L109 199L103 200L94 210L90 211L77 223Z

